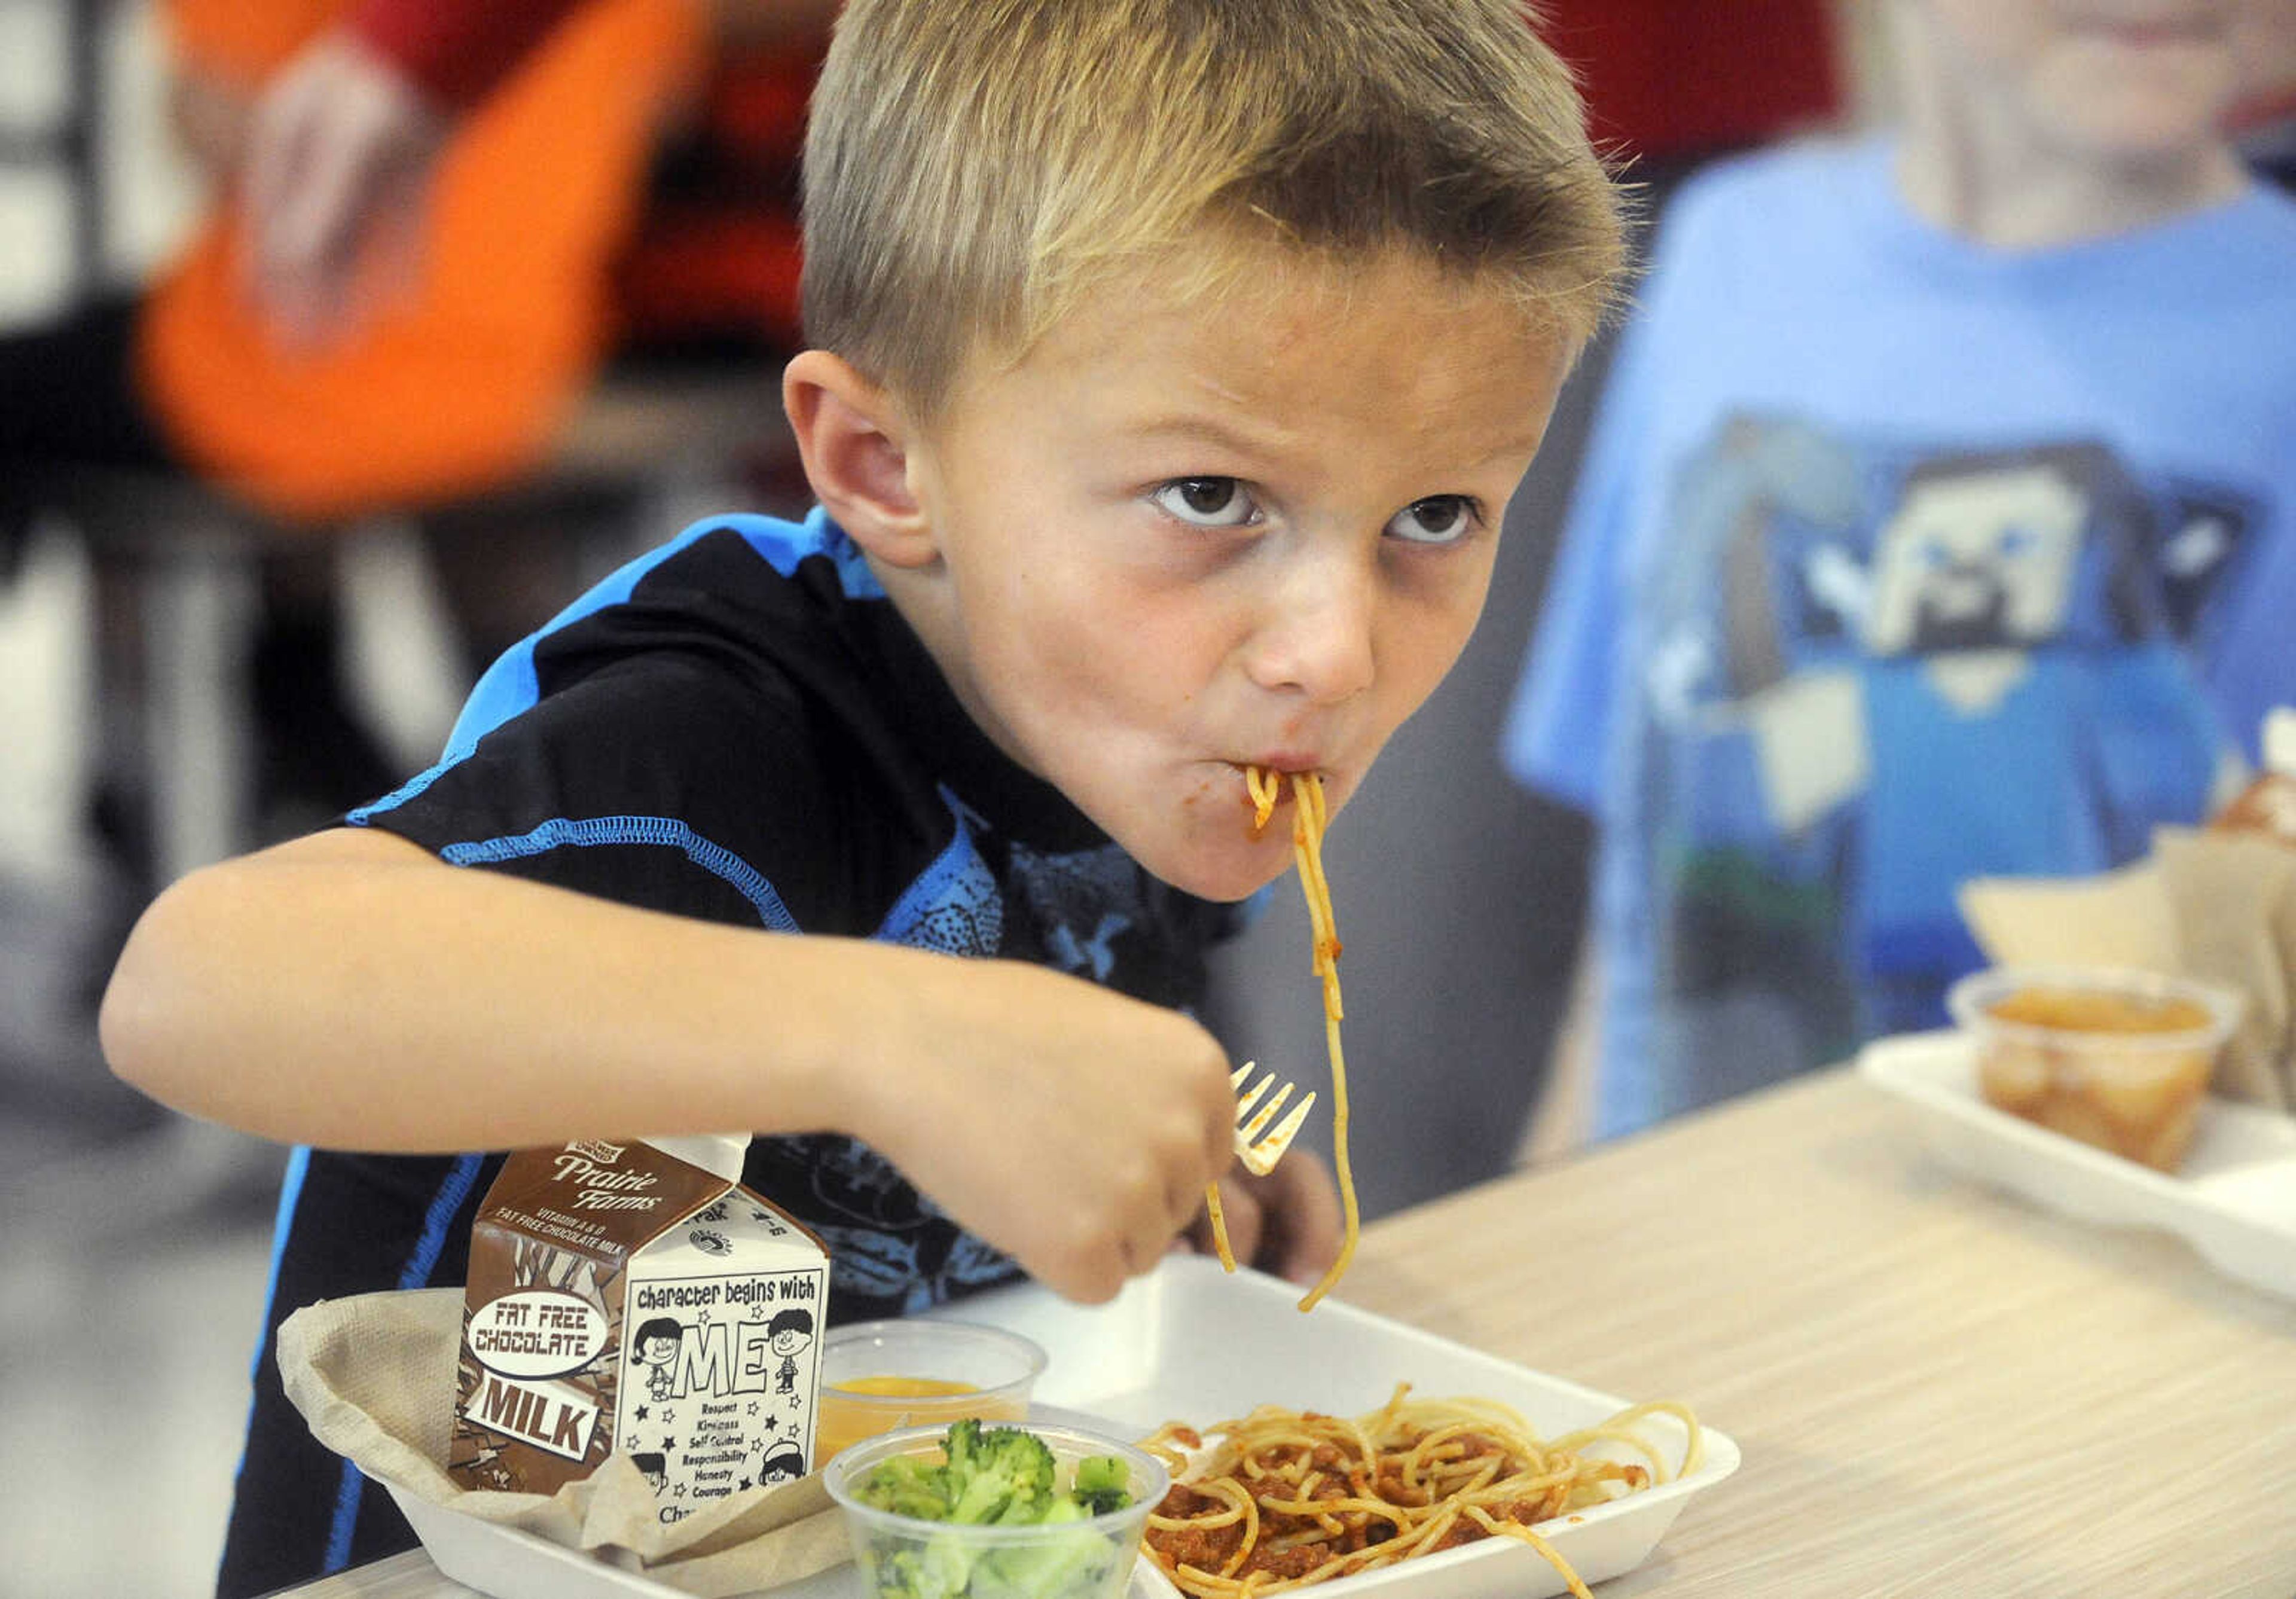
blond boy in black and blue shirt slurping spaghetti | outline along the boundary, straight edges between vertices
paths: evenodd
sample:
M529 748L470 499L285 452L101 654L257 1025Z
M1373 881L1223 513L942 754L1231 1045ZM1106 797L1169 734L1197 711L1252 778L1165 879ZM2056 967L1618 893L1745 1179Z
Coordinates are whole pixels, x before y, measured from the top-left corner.
M1203 951L1290 864L1244 767L1336 813L1437 685L1619 276L1513 0L856 0L813 117L820 508L638 558L122 956L115 1068L303 1146L273 1330L459 1282L455 1151L583 1135L758 1130L831 1321L1155 1266L1231 1162ZM1311 1277L1327 1169L1263 1183ZM225 1592L409 1544L257 1372Z

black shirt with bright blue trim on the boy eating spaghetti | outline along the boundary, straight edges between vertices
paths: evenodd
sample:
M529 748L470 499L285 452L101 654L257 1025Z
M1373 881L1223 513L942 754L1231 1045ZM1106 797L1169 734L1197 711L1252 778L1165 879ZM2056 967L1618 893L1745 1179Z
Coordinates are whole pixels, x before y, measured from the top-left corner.
M347 820L627 905L1031 960L1166 1006L1199 1002L1235 917L999 751L822 512L703 522L634 561L487 671L436 767ZM413 1544L310 1438L273 1337L319 1298L459 1284L498 1160L296 1151L223 1594ZM744 1179L829 1243L829 1321L1019 1275L859 1140L760 1137Z

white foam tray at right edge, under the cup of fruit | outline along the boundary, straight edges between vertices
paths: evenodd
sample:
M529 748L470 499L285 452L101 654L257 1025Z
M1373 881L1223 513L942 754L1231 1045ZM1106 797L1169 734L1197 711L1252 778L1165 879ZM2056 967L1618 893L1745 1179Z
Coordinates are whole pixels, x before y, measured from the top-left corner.
M1924 1142L1970 1176L2082 1222L2172 1231L2227 1277L2296 1298L2296 1117L2209 1096L2167 1174L1988 1105L1958 1029L1878 1038L1857 1073L1910 1105Z

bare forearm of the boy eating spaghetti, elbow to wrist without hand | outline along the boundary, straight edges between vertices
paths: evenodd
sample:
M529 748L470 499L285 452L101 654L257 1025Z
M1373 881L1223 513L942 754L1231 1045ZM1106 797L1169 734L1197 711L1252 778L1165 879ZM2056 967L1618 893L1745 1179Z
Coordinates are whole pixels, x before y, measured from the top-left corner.
M893 995L930 995L934 965L631 910L340 832L163 894L101 1027L113 1068L154 1098L282 1142L448 1151L852 1130L840 1066L905 1025Z

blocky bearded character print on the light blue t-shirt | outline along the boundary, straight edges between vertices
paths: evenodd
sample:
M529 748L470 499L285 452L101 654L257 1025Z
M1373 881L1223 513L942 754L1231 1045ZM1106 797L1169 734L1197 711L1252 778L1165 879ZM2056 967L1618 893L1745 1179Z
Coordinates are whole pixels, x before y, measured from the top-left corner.
M2227 747L2179 646L2236 577L2239 505L2094 441L1731 416L1637 579L1660 995L1761 988L1775 958L1807 999L1821 947L1841 1048L1938 1025L1979 965L1956 885L2099 871L2197 820Z

